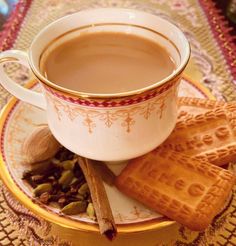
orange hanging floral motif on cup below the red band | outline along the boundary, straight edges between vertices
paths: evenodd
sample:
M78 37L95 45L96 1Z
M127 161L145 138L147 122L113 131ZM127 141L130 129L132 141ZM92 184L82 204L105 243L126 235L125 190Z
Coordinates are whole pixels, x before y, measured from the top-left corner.
M56 96L47 92L47 101L50 103L56 114L58 120L61 121L62 116L67 116L70 121L74 121L77 117L83 119L83 125L87 128L88 132L93 133L96 127L96 122L103 122L104 126L111 128L117 121L121 122L120 126L125 129L127 133L131 132L132 126L135 124L135 117L138 115L146 120L152 114L155 114L160 120L162 119L163 111L166 108L166 101L169 96L177 97L176 87L171 87L166 90L162 95L151 98L147 103L141 103L138 105L125 105L125 107L117 108L98 108L90 109L82 108L77 104L68 106L66 102L63 102Z

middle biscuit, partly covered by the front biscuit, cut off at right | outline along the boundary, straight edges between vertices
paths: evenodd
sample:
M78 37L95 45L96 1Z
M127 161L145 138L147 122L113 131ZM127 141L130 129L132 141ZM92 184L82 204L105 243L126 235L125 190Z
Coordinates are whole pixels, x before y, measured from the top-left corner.
M179 120L162 146L219 166L235 161L236 104Z

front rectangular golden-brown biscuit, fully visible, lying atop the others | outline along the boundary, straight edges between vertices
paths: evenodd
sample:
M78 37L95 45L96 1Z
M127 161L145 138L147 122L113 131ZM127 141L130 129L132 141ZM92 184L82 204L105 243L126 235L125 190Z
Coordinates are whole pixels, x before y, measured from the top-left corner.
M228 198L229 171L163 148L129 162L117 188L189 229L204 230Z

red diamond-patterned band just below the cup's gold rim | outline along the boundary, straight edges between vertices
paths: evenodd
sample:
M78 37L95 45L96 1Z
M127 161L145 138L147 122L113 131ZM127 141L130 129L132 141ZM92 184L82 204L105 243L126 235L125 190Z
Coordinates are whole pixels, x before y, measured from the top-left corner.
M179 80L177 79L175 81L171 81L162 86L159 86L157 89L147 91L146 93L142 93L140 95L131 95L125 98L114 98L114 99L101 99L101 98L83 99L79 97L71 97L46 85L43 86L50 94L54 95L57 98L63 99L67 102L73 104L79 104L87 107L109 108L109 107L130 106L133 104L147 101L170 90L173 86L177 85L178 82Z

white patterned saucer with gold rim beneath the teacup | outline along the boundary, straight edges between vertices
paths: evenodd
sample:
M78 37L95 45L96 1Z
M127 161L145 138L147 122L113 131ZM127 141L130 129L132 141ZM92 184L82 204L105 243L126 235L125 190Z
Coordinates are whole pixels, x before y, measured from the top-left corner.
M39 90L35 81L27 85L32 90ZM199 83L188 78L181 81L180 96L211 98L213 96ZM27 168L22 157L22 142L38 125L46 123L45 112L30 104L12 98L0 115L0 174L3 182L15 197L38 216L77 230L98 231L97 224L85 214L66 216L51 206L39 203L32 196L32 188L21 179ZM110 166L118 174L123 164ZM160 229L175 223L157 214L142 204L121 194L115 187L106 186L109 201L119 232L138 232Z

